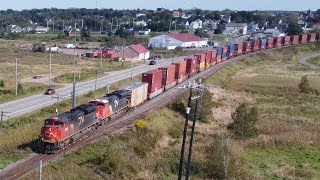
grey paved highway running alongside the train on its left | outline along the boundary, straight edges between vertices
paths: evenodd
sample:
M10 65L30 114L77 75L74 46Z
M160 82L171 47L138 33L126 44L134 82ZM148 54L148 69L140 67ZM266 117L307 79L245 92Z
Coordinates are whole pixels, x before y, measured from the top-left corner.
M119 71L117 73L112 73L112 76L105 76L98 78L97 80L97 88L106 87L108 84L115 83L117 81L130 78L133 74L134 76L139 75L143 72L148 70L156 69L157 67L165 66L171 64L172 61L181 60L184 57L177 57L177 58L170 58L170 59L159 59L157 60L157 65L139 65L134 67L133 72L131 69ZM76 84L76 93L77 95L85 94L89 91L94 90L95 88L95 79L86 81L86 82L79 82ZM66 87L60 88L56 90L56 95L53 96L64 96L62 99L69 99L71 98L72 92L72 84L67 85ZM61 100L62 100L61 99ZM40 109L49 105L56 103L57 100L52 96L44 95L44 94L37 94L34 96L29 96L26 98L18 99L15 101L10 101L7 103L0 104L0 111L9 112L10 118L17 117L28 112L31 112L36 109ZM4 118L4 121L8 118Z

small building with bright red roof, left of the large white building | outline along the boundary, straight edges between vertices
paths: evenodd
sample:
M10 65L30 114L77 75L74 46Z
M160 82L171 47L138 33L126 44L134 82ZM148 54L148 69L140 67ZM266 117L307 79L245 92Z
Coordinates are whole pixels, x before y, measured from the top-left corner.
M120 51L120 59L124 59L125 61L139 61L148 59L149 57L150 51L141 44L125 47Z

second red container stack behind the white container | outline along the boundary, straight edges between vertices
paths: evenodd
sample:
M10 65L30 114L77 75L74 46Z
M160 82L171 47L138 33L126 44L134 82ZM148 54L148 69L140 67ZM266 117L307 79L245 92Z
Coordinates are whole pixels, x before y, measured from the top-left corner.
M177 81L175 80L176 66L174 64L159 69L162 70L162 86L165 90L170 89L177 84Z

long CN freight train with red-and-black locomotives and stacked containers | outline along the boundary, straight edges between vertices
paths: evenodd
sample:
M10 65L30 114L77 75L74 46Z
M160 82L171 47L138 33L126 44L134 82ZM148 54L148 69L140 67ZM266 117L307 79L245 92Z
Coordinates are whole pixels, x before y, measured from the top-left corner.
M245 41L214 47L206 52L145 72L142 74L142 82L134 83L45 120L41 129L39 148L41 152L54 153L72 143L83 131L107 123L112 115L135 108L221 61L264 49L314 42L320 42L319 34Z

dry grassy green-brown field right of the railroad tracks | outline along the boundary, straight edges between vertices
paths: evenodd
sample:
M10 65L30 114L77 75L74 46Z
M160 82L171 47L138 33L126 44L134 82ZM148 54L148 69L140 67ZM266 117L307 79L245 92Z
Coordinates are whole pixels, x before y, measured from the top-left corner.
M298 63L319 45L290 47L227 66L206 80L206 114L196 126L192 179L320 177L320 98L299 92L307 76L320 91L320 69ZM44 168L45 179L177 179L186 97ZM260 135L239 140L227 125L240 103L257 107ZM208 107L212 107L208 112ZM212 112L212 113L210 113ZM190 128L189 128L190 129ZM68 173L66 173L68 172ZM37 178L33 173L25 179Z

